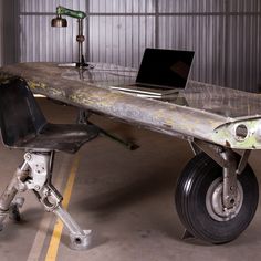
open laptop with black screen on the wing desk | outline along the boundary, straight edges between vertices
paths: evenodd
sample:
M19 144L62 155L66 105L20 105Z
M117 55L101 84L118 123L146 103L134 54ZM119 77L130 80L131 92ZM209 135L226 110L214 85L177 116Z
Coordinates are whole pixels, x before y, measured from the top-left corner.
M133 85L111 86L127 93L160 98L186 87L194 51L146 49Z

